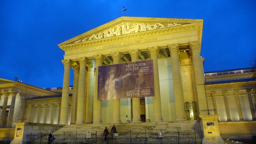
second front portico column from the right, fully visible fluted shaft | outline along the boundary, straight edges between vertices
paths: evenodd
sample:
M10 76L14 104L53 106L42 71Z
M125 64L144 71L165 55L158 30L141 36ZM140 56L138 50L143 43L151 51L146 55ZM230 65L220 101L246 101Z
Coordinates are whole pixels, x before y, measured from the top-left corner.
M174 99L175 99L175 109L176 109L176 121L184 121L185 109L184 109L184 95L182 88L182 80L180 73L180 62L179 62L179 44L175 43L173 45L168 45L171 58L172 58L172 68L173 68L173 89L174 89Z

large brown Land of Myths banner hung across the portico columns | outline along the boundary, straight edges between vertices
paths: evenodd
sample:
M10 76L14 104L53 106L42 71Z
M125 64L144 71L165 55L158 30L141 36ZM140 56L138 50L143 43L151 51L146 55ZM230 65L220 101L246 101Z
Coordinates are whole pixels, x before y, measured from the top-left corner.
M154 96L153 60L98 68L98 100Z

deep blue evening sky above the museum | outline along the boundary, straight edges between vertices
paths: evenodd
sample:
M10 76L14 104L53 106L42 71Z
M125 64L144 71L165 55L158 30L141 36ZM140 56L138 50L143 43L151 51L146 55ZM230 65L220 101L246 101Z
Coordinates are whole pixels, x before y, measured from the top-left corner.
M121 16L204 19L205 72L251 67L255 57L255 0L1 0L0 78L62 87L57 44Z

